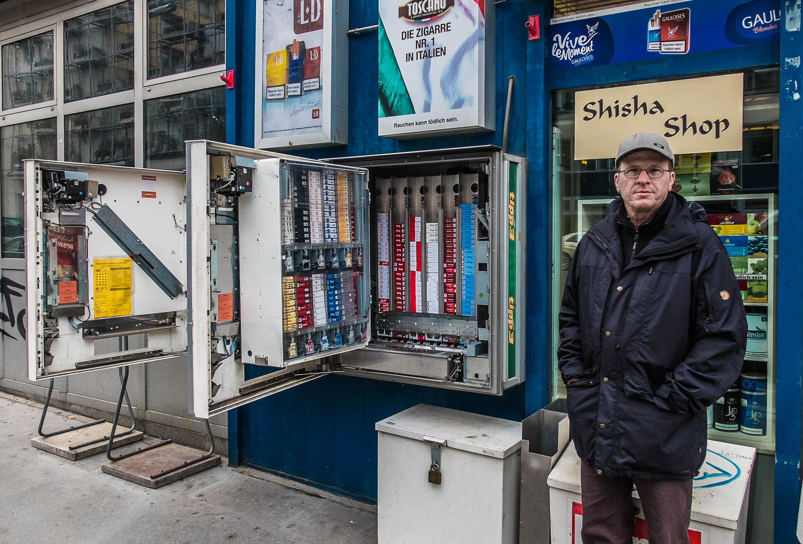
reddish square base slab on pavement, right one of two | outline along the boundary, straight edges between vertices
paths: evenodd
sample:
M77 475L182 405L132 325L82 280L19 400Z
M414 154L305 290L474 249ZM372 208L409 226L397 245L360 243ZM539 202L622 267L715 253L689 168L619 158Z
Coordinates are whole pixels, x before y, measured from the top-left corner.
M181 478L191 474L220 465L220 456L213 455L203 461L198 461L194 465L165 474L165 476L151 478L152 474L181 465L181 463L202 456L204 453L206 452L202 452L199 449L188 448L178 444L168 444L147 452L137 453L135 456L126 457L120 461L109 461L100 465L100 469L104 473L123 480L156 489L173 481L181 480Z

